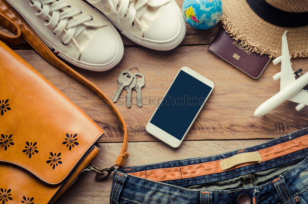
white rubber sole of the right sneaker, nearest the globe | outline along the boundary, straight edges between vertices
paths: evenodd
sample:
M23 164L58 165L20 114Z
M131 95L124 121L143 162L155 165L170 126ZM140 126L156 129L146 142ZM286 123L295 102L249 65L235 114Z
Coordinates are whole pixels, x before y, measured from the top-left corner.
M87 0L83 0L85 2L87 2ZM176 4L176 2L174 0L170 1L173 6L176 6L178 8L178 10L180 11L180 13L182 14L182 10L180 9L180 7ZM90 4L89 2L87 2L88 4ZM91 4L90 4L91 6ZM92 8L94 8L92 6ZM99 11L98 9L94 8L95 11L97 11L98 13L101 14L101 16L105 16L101 11ZM135 34L133 34L132 32L128 31L127 29L125 29L124 27L117 25L116 22L113 22L111 20L111 23L113 23L113 25L118 28L120 30L120 32L126 36L128 39L132 40L133 42L144 46L144 47L148 47L150 49L153 50L161 50L161 51L167 51L167 50L172 50L173 48L177 47L182 40L185 37L186 34L186 23L184 20L184 17L182 18L182 30L179 30L179 32L177 33L176 36L174 36L172 39L169 39L167 41L155 41L155 40L151 40L151 39L146 39L146 38L141 38Z

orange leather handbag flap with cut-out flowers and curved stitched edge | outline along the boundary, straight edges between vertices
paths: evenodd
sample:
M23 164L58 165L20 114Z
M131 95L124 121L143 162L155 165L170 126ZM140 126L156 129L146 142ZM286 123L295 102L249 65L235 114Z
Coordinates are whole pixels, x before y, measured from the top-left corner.
M0 53L0 162L58 185L103 130L1 41Z

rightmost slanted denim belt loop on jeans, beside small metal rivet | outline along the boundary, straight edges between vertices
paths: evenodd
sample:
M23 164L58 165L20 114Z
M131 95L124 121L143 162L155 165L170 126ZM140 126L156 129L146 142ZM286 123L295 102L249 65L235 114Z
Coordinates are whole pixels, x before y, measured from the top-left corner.
M295 204L295 201L289 193L289 189L286 186L285 178L283 176L279 176L277 179L275 179L273 184L283 204Z

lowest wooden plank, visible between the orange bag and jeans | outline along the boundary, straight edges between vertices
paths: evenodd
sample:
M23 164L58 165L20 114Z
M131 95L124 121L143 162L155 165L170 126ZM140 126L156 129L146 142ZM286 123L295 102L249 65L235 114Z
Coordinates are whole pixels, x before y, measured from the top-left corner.
M162 142L132 142L129 144L130 157L126 166L145 165L150 163L204 157L220 154L247 146L257 145L266 140L222 140L222 141L184 141L173 149ZM112 166L120 151L120 143L99 144L102 149L93 165L107 168ZM55 204L75 203L109 203L112 175L103 182L95 180L94 172L85 172L67 190Z

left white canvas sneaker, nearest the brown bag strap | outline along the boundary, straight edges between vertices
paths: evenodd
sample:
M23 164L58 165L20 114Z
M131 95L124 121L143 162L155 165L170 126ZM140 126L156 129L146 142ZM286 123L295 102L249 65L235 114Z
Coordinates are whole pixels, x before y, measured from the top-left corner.
M123 57L111 22L82 0L6 0L59 57L77 67L106 71Z

